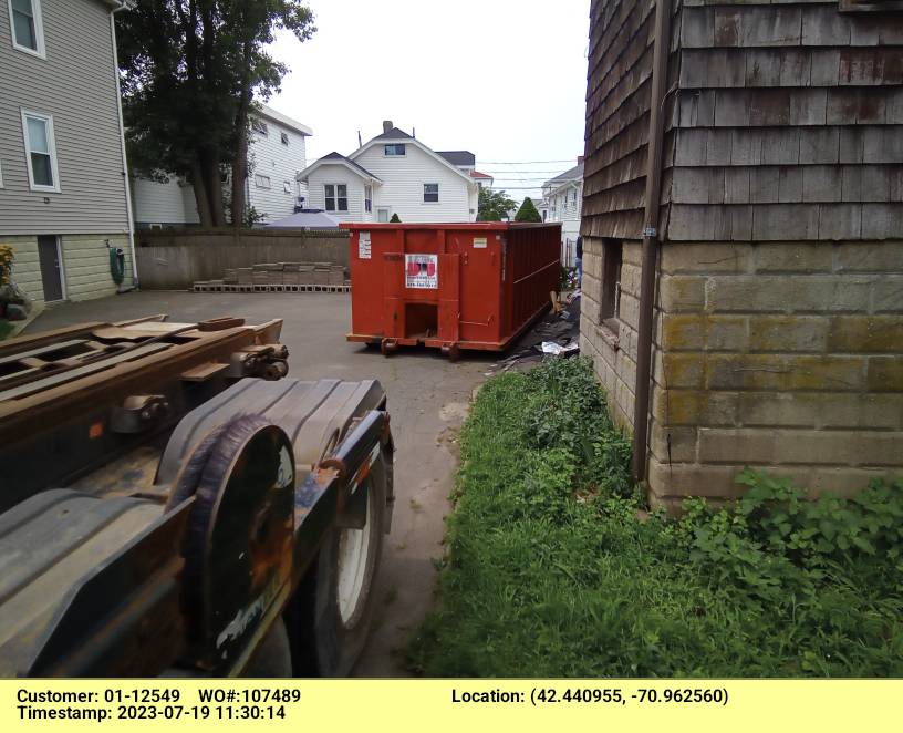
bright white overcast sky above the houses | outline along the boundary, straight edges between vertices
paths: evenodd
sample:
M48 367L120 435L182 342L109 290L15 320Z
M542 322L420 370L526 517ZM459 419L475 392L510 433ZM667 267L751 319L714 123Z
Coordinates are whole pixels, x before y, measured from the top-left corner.
M433 149L473 152L520 200L583 153L590 0L309 6L318 31L278 38L272 53L292 71L269 102L313 128L308 163L349 155L359 130L366 143L392 120Z

